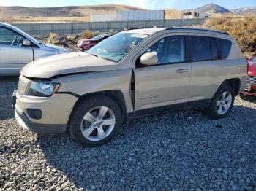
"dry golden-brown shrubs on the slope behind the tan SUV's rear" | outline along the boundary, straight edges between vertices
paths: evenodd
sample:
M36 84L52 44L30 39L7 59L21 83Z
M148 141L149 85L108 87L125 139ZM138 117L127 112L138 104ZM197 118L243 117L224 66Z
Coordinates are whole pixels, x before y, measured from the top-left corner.
M206 25L214 30L225 31L233 36L241 47L244 55L256 54L256 17L212 17Z

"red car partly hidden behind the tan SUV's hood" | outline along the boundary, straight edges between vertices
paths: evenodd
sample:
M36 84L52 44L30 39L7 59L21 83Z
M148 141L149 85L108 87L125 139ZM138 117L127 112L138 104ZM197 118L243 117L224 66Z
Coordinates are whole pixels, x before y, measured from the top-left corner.
M89 50L91 47L93 47L95 44L98 44L104 39L107 39L110 36L110 34L100 34L97 36L94 36L92 39L81 39L78 41L77 47L79 50L82 50L83 52L85 50Z

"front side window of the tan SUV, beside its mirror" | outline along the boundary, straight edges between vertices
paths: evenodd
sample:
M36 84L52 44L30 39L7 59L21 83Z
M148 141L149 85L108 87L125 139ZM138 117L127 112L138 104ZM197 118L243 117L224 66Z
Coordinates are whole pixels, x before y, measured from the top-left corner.
M167 36L151 46L146 52L156 52L158 64L181 63L185 61L184 36Z

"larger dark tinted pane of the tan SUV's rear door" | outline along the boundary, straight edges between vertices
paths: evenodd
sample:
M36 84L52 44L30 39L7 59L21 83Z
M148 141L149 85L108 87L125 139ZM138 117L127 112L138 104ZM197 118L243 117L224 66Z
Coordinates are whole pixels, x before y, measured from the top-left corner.
M191 36L193 61L211 60L211 42L206 36Z

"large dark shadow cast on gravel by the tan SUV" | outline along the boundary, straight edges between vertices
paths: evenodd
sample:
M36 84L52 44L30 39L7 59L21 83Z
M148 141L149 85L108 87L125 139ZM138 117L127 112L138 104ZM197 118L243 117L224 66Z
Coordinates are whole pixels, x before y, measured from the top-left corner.
M86 190L254 189L256 109L234 106L222 120L184 113L132 120L97 148L80 147L69 133L39 135L37 141L50 165Z

